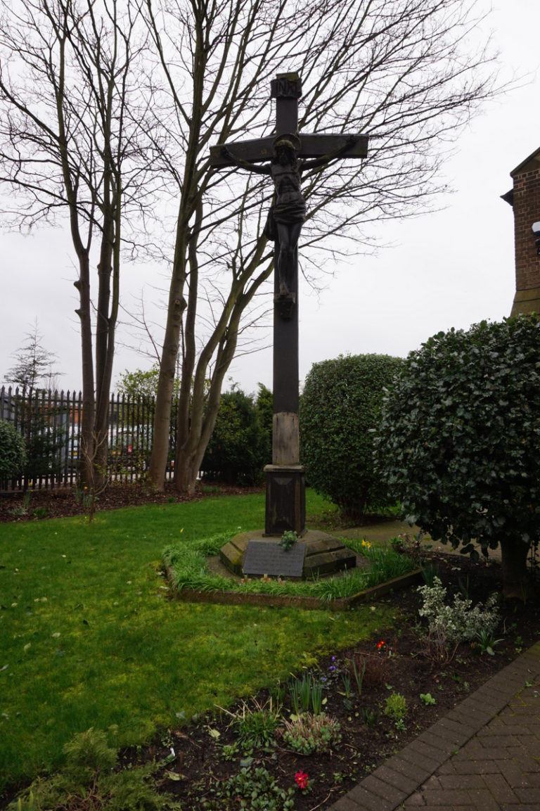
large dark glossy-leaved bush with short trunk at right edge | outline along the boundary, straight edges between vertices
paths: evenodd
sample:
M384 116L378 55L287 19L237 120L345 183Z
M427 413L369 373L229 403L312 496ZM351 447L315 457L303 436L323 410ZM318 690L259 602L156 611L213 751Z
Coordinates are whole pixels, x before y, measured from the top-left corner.
M478 558L500 546L504 595L524 599L540 536L540 317L438 333L384 399L377 466L405 516Z

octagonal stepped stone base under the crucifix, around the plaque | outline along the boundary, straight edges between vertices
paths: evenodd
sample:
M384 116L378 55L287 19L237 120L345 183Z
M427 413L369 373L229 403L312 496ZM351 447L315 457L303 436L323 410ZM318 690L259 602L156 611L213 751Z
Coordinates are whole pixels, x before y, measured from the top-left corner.
M268 538L264 530L253 530L252 532L241 532L234 535L229 543L221 547L220 560L229 572L242 577L242 565L246 556L247 544L250 541L264 541L266 543L278 543L279 539ZM333 538L325 532L318 530L307 530L300 543L306 544L306 555L302 569L302 580L306 578L325 576L334 572L341 572L343 569L354 569L356 566L356 555L354 551L343 545L341 540ZM266 572L261 571L260 577ZM297 579L300 578L290 578Z

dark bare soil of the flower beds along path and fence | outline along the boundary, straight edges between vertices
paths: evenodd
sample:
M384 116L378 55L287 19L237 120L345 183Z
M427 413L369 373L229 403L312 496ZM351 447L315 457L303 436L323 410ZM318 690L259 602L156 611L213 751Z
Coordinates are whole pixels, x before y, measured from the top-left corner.
M245 491L233 488L227 492ZM195 497L203 498L204 494L199 493ZM174 498L172 491L148 496L142 488L114 487L101 500L99 508L155 500L166 502L171 498ZM0 500L0 521L36 520L32 514L16 517L10 512L14 504L20 505L20 500L13 502L5 497ZM72 493L36 493L32 496L31 504L32 509L36 508L34 504L47 508L50 517L84 512L82 508L76 509ZM444 554L438 549L426 551L426 559L437 567L449 595L466 590L476 603L485 602L489 594L500 591L501 575L497 562L474 563L468 557ZM212 789L219 787L229 776L238 774L242 766L251 769L264 767L281 787L294 788L297 811L324 811L387 757L401 750L510 663L522 650L538 641L540 633L540 595L537 588L534 598L525 606L519 603L502 604L499 629L495 633L495 637L501 641L495 646L495 655L481 654L478 647L474 650L470 646L460 646L449 661L435 662L426 654L418 628L418 607L421 604L418 592L396 591L381 602L396 610L395 627L383 639L374 637L346 650L334 650L312 670L313 676L324 676L325 679L324 712L337 719L341 727L341 741L335 748L326 753L295 753L278 734L275 745L268 749L255 748L251 753L242 753L238 749L236 754L229 754L229 759L226 759L228 749L224 749L224 746L238 744L238 735L234 725L231 725L231 716L216 708L212 716L192 719L187 725L168 730L142 750L123 752L123 766L150 759L162 762L159 772L161 788L182 801L182 811L202 811L207 808L208 800L214 796ZM380 645L381 642L384 644ZM360 667L366 662L361 695L358 695L354 684L353 660ZM351 691L346 695L348 676ZM283 688L282 714L288 718L293 708L286 685ZM394 719L384 713L386 700L392 693L400 693L405 698L405 719L398 727ZM434 703L429 703L428 699L422 700L421 694L429 695ZM246 705L255 709L256 706L268 706L269 697L268 691L256 697L246 697ZM273 706L276 706L275 693L273 701ZM236 709L242 710L242 706ZM234 707L229 707L229 712L234 711ZM299 772L308 775L308 791L302 792L295 786L294 778ZM220 805L213 807L219 808Z

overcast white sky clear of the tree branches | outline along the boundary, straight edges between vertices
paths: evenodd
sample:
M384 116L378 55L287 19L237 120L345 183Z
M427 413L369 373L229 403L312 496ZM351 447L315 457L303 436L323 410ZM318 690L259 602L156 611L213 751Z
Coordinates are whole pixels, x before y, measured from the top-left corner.
M301 382L312 363L338 354L405 356L440 330L510 314L513 217L500 195L512 187L510 171L540 146L540 0L495 0L489 24L505 75L528 74L528 83L489 105L461 135L456 156L444 167L456 190L440 199L444 210L385 223L383 238L393 247L336 266L319 295L307 287L301 291ZM0 245L0 382L37 319L44 348L58 355L60 387L78 390L79 320L69 239L45 226L30 237L0 234ZM123 266L127 306L143 287L147 298L165 298L154 292L152 276L152 268ZM114 380L126 368L147 366L147 360L119 347ZM236 359L229 377L247 393L258 382L271 388L271 350Z

